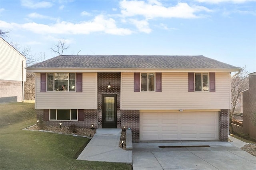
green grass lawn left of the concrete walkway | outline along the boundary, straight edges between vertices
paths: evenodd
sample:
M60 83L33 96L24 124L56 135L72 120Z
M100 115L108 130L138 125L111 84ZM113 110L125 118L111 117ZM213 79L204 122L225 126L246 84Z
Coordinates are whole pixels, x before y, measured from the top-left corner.
M12 110L14 107L28 107L28 105L27 103L1 104L1 119L2 115L18 115L13 111L9 112L5 107ZM30 107L32 109L34 106L30 105ZM20 114L26 114L21 108L17 110L22 111ZM34 124L36 120L34 116L32 119L23 119L22 122L0 128L1 170L131 169L128 164L76 160L76 156L89 140L63 134L22 130ZM6 122L5 119L3 121ZM8 121L15 122L9 118Z

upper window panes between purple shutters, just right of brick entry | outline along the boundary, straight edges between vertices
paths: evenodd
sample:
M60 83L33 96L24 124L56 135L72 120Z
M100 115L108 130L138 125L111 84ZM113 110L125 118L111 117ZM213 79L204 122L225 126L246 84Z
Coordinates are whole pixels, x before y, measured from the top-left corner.
M155 73L141 73L140 82L140 91L155 91Z

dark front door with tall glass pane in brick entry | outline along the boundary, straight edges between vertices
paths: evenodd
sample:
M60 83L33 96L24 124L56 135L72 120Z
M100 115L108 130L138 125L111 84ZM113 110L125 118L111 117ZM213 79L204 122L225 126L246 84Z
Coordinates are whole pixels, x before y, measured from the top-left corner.
M116 95L102 95L102 128L116 128Z

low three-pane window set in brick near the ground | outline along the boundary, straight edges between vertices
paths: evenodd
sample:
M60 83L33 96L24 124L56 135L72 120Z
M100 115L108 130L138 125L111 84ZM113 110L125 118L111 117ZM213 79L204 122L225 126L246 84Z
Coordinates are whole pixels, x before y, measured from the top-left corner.
M78 111L76 109L50 109L50 120L77 121Z

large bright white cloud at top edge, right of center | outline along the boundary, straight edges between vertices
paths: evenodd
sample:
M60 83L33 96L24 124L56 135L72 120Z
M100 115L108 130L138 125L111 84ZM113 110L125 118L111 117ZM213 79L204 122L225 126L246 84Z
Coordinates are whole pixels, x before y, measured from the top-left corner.
M152 4L154 2L154 4ZM176 6L165 7L158 1L154 0L150 3L144 1L126 1L120 2L120 8L123 16L141 15L147 19L151 18L197 18L196 12L211 12L204 6L189 6L187 3L179 2Z

